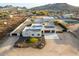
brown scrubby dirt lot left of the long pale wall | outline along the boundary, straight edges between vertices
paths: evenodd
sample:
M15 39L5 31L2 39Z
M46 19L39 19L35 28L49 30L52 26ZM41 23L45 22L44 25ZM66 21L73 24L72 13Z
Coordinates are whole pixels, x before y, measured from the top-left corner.
M0 21L0 39L6 36L7 33L11 32L15 29L19 24L21 24L25 19L25 17L14 17L8 20L1 20ZM7 25L4 24L7 22Z

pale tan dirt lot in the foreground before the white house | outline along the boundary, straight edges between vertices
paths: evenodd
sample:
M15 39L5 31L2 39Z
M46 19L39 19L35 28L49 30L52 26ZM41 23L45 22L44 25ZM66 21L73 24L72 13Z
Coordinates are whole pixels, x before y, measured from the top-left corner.
M47 39L43 49L12 48L2 55L28 55L28 56L52 56L52 55L79 55L79 40L69 33L58 34L60 39Z

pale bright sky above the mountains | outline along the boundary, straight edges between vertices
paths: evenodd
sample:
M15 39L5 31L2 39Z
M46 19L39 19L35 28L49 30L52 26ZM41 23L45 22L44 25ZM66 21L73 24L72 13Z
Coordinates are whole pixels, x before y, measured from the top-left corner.
M27 8L53 3L68 3L73 6L79 6L79 0L0 0L0 6L8 4L14 6L26 6Z

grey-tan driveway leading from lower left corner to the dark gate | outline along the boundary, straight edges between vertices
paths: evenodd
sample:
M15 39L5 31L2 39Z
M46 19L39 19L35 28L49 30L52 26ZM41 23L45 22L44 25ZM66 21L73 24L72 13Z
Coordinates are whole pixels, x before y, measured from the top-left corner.
M13 37L7 37L6 39L7 40L0 47L0 54L12 48L14 43L19 39L19 37L13 36Z

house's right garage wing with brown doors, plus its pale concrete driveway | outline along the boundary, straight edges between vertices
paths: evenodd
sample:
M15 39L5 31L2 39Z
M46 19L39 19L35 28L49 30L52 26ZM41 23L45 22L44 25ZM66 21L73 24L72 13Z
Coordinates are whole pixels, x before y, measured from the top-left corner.
M43 31L45 39L59 39L54 24L49 23L48 25L45 25Z

